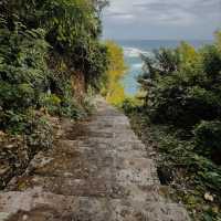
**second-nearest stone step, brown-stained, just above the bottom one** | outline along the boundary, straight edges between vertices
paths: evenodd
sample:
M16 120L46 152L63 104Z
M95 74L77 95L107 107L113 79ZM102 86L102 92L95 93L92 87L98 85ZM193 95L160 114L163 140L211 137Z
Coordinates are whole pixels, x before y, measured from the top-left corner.
M63 177L25 176L18 179L8 191L23 191L41 188L44 192L54 194L97 197L108 199L136 199L137 201L165 201L160 196L158 183L145 186L135 182L115 182L115 178L87 178L76 179L70 175Z

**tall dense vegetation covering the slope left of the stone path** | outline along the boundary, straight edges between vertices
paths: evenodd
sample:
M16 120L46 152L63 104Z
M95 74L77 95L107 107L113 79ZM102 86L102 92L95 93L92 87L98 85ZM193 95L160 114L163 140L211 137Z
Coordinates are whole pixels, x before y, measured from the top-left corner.
M30 159L52 144L49 116L77 119L90 112L88 94L99 92L109 63L107 48L99 42L99 14L106 4L106 0L0 2L0 160L7 179L12 173L6 165L13 165L10 171L18 169L18 155L8 152L9 141L22 139L31 146Z

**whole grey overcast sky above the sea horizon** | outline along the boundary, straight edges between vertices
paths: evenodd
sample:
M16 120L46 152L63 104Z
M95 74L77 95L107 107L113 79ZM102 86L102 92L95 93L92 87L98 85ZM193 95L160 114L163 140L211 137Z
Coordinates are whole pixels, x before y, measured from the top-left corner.
M221 0L109 0L105 39L212 39Z

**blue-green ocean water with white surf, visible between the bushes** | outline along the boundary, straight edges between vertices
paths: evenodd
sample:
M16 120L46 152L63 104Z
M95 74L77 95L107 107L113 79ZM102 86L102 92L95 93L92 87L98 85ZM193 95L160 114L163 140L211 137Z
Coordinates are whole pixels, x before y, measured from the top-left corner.
M135 95L139 88L137 76L141 73L143 61L140 53L151 55L152 50L160 48L176 48L180 41L176 40L118 40L116 41L124 49L124 56L128 66L128 72L122 83L127 95ZM194 40L188 41L194 48L200 48L211 41Z

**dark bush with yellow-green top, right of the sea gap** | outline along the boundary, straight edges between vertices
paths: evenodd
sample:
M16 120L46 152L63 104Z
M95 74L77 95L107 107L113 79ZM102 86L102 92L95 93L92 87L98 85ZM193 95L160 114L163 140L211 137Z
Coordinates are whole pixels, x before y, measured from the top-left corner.
M146 105L155 122L191 128L200 120L220 117L221 53L215 45L197 52L181 43L144 61L139 82L147 91Z

